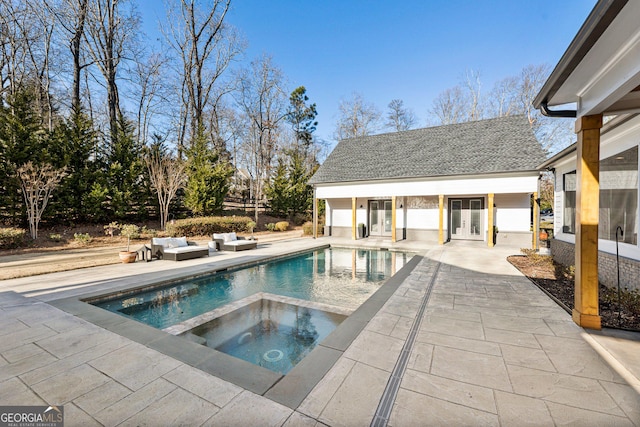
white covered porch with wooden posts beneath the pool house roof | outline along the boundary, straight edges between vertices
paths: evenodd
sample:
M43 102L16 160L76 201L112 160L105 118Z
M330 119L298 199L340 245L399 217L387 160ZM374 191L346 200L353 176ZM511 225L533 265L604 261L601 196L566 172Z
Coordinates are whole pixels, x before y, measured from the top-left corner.
M537 229L538 204L532 200L535 191L316 198L316 217L323 211L324 223L314 222L314 236L535 247L531 230Z

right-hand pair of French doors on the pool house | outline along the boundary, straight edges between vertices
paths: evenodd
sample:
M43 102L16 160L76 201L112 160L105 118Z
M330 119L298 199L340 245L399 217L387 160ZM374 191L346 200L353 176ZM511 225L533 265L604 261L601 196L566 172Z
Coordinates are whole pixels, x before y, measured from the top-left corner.
M483 199L450 199L449 225L451 238L484 240Z

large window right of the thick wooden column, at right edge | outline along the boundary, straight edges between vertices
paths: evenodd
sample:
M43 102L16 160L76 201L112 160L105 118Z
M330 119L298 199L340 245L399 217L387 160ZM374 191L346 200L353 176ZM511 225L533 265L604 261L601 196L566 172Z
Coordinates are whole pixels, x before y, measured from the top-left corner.
M638 244L638 147L600 161L600 221L598 238Z

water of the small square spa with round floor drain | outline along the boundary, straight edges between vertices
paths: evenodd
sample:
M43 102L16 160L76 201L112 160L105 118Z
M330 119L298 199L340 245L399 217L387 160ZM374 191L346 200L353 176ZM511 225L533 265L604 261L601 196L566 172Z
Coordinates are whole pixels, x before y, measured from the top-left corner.
M265 298L183 335L254 365L286 374L346 317Z

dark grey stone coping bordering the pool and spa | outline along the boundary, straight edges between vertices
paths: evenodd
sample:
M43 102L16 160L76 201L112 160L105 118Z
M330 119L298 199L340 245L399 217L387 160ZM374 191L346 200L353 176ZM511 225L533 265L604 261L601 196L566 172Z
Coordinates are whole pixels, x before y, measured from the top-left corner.
M322 247L344 248L344 246L341 245L325 244L304 251L293 251L280 256L265 257L265 259L255 262L239 263L230 268L239 268L243 265L257 264L271 259L275 260L292 256L296 253L321 249ZM411 260L392 277L387 279L376 292L347 317L287 375L272 372L266 368L253 365L209 347L171 335L160 329L153 328L86 302L96 296L106 295L104 292L89 292L49 301L49 304L189 366L229 381L253 393L267 397L291 409L296 409L316 384L329 372L353 340L362 332L369 321L378 313L422 259L422 254L415 253ZM226 269L227 268L223 268L221 270ZM196 276L200 275L202 274ZM189 276L184 276L183 278L186 277ZM174 280L175 279L172 279L167 282ZM140 288L140 286L122 286L119 287L120 290L108 294L129 291L134 288Z

